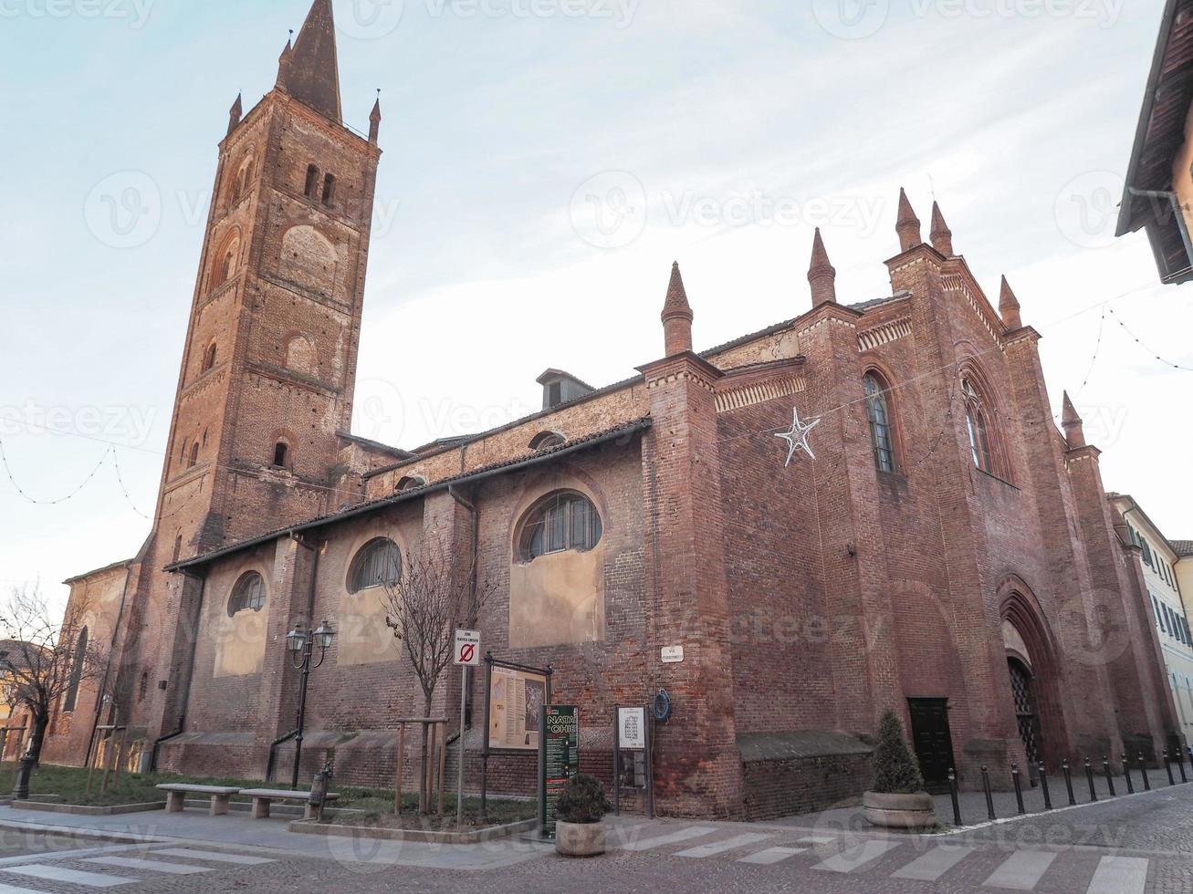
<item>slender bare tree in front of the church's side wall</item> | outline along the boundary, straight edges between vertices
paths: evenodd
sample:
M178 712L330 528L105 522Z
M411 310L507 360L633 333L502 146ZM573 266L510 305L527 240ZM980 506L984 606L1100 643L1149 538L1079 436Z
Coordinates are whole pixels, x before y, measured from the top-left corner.
M493 585L477 579L476 558L452 555L435 538L407 553L398 579L384 585L382 607L395 645L410 659L422 687L422 716L431 716L435 687L452 662L456 629L476 623ZM463 743L464 731L460 730ZM463 750L462 750L463 756ZM419 809L427 803L427 725L422 724ZM401 759L401 756L398 757ZM401 793L398 793L401 796Z

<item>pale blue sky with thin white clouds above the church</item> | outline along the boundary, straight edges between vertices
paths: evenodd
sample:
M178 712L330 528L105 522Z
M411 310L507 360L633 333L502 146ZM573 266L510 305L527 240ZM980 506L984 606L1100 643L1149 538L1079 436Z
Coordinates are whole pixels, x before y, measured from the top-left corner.
M697 349L810 306L816 225L842 303L889 294L904 186L1009 278L1107 488L1193 538L1193 286L1113 238L1161 0L334 5L346 123L384 118L357 434L632 375L673 260ZM0 0L0 588L63 602L148 534L216 147L307 10Z

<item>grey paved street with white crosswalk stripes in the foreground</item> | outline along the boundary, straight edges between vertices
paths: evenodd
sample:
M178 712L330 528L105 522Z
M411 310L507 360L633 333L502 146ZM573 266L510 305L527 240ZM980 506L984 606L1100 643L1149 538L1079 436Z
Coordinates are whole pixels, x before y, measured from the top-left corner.
M521 840L412 845L297 836L285 820L0 812L0 894L120 892L1193 892L1193 786L945 836L802 824L611 822L611 851L565 861ZM107 840L20 831L92 827ZM122 837L123 840L112 840ZM140 839L140 840L129 840ZM72 850L62 850L72 849Z

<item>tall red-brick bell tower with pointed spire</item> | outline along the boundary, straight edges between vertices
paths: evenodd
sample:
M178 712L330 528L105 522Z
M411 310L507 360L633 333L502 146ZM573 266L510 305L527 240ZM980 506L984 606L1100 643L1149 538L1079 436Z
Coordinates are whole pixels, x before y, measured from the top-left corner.
M117 634L118 699L150 744L185 714L197 582L162 569L338 505L381 149L344 125L330 0L274 88L237 97L187 325L154 530ZM211 595L211 598L225 597Z

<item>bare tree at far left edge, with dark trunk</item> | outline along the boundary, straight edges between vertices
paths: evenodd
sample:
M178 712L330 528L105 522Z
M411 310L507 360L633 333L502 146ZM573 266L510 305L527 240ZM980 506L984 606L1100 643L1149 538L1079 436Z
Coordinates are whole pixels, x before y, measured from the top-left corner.
M79 689L104 676L103 650L86 635L87 607L75 602L55 621L38 589L13 588L0 606L0 677L5 701L25 708L33 722L26 756L39 760L50 715L60 700L73 700Z

